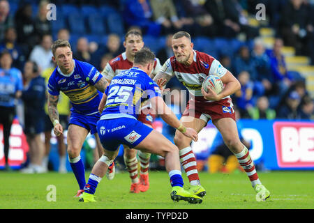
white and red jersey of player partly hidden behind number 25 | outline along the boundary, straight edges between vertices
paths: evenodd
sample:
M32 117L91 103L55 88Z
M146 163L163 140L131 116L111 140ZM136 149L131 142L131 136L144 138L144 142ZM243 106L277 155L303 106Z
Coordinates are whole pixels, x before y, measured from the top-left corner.
M112 59L105 68L103 69L102 75L108 80L111 81L114 76L119 74L123 70L128 70L133 67L133 62L129 61L126 58L126 52L123 52L116 58ZM155 58L154 70L151 71L152 74L156 75L160 70L161 65L158 58Z

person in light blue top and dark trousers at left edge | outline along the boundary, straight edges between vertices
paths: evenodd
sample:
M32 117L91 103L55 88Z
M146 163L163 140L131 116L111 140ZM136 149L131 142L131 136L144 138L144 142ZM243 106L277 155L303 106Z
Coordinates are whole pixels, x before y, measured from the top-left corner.
M15 117L15 99L22 95L22 74L13 63L10 52L0 54L0 123L3 125L4 157L6 170L9 170L9 137L13 118Z

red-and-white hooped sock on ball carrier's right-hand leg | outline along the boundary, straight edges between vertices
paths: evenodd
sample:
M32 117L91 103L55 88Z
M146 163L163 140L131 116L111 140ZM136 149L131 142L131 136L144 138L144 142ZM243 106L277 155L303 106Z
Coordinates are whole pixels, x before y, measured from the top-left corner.
M234 153L234 155L237 157L240 166L244 169L244 171L246 171L246 175L251 180L252 187L255 187L257 184L262 184L260 183L260 179L257 176L257 172L253 160L251 159L251 155L248 152L248 148L244 146L240 153Z

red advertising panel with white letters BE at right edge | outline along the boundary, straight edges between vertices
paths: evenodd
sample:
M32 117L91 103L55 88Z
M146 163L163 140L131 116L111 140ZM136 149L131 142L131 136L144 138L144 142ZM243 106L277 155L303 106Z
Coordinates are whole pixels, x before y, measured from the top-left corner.
M314 167L314 122L275 121L278 167Z

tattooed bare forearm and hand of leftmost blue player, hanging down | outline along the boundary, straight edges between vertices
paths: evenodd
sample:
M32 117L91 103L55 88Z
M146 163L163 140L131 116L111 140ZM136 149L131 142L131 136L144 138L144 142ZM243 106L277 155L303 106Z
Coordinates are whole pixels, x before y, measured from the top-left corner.
M56 134L57 137L63 133L62 125L59 123L58 101L59 95L51 95L48 93L48 114L54 125L54 134Z

